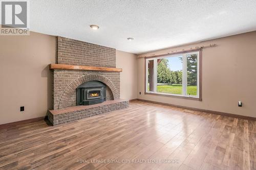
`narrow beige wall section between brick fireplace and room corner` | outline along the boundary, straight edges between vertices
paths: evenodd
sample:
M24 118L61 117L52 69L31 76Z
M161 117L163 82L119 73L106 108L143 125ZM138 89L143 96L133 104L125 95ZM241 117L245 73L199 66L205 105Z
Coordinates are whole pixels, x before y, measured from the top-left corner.
M116 50L116 67L122 68L120 73L120 98L137 98L137 57L135 54Z

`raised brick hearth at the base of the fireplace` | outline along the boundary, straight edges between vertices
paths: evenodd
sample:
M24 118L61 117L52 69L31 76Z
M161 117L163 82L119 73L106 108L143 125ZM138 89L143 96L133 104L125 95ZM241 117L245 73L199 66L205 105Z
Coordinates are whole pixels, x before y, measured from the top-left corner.
M108 113L128 107L127 100L117 99L88 106L72 106L65 109L49 110L48 119L53 126L74 122L75 120Z

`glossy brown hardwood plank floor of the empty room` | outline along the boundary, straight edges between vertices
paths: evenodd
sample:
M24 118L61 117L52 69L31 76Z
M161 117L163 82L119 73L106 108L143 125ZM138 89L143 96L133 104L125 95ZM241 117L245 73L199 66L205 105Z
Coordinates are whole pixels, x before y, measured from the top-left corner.
M56 127L1 129L0 169L256 169L255 141L250 120L134 101Z

